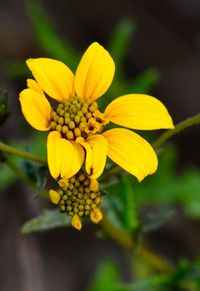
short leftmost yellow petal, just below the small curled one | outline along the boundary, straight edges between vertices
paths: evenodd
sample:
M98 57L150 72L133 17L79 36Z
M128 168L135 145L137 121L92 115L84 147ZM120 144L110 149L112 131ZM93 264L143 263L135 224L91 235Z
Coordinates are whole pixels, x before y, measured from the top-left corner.
M35 129L46 131L50 128L51 106L43 93L25 89L19 95L24 117Z

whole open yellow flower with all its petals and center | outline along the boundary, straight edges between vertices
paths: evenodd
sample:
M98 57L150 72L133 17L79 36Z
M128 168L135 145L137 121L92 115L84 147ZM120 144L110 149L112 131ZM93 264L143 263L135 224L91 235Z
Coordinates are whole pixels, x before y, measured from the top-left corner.
M101 45L89 46L75 76L53 59L29 59L27 65L35 80L27 80L28 88L20 93L22 112L37 130L50 130L47 158L55 179L75 175L84 159L87 174L96 179L107 156L139 181L156 171L157 157L147 141L125 128L103 127L113 122L136 130L173 128L172 119L159 100L141 94L118 97L104 113L98 110L95 100L107 91L115 71ZM56 109L45 94L59 102Z

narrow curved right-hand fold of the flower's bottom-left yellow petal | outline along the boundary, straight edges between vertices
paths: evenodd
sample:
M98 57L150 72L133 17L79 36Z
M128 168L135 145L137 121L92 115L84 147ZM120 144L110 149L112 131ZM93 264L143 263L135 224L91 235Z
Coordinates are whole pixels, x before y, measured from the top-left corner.
M71 145L73 146L71 165L68 170L61 174L65 178L74 176L80 170L85 157L84 149L80 144L72 142Z

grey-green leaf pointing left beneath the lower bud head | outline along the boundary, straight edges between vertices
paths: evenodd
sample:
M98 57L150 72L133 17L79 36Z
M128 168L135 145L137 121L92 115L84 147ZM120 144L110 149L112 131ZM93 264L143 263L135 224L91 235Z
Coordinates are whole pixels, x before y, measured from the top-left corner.
M27 221L21 228L22 234L54 229L70 225L70 217L59 210L44 210L42 214Z

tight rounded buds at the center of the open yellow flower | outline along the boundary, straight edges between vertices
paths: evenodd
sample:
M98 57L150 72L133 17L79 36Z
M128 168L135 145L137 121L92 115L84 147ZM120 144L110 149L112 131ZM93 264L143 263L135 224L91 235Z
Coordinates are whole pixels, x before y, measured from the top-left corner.
M60 103L52 112L51 130L60 132L62 137L68 140L76 140L81 136L86 138L83 128L97 111L98 105L92 100L84 100L77 96L70 98Z

